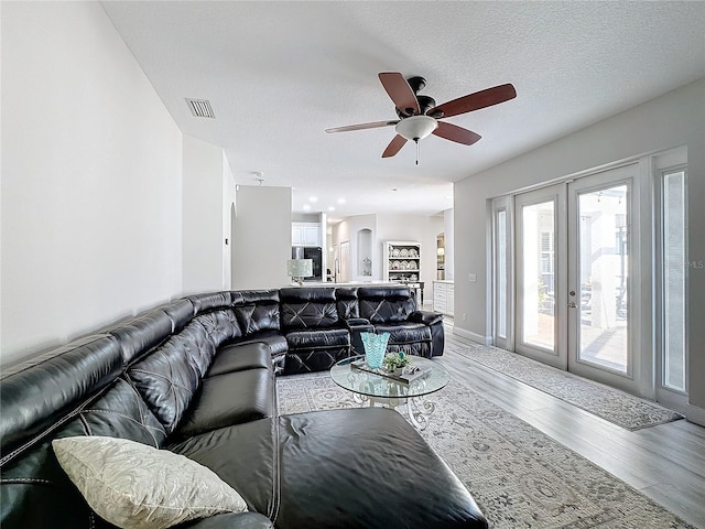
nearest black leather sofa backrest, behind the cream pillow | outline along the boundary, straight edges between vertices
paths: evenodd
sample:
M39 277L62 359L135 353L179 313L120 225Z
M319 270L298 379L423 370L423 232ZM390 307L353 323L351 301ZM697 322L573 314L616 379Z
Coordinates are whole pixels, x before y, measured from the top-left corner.
M164 443L164 428L121 377L122 369L119 342L104 334L3 370L2 527L96 526L95 515L58 466L53 439L109 435Z

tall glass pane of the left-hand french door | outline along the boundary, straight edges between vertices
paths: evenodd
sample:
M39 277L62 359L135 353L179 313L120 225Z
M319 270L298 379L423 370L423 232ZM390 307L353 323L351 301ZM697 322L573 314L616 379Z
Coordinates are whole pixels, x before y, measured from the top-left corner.
M521 208L522 344L555 348L555 201Z

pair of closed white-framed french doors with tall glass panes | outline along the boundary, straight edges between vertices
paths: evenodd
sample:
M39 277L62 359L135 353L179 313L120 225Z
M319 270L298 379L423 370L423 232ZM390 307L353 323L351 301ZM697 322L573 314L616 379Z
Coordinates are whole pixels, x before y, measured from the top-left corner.
M514 350L642 393L638 164L514 197Z

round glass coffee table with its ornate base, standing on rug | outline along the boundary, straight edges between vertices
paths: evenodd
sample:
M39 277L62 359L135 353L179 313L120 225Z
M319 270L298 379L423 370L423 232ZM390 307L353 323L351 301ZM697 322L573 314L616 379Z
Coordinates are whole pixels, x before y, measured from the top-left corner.
M436 407L426 400L426 396L444 388L451 380L451 374L440 364L420 356L412 357L412 365L421 375L410 381L401 381L381 375L369 368L356 367L364 364L365 356L354 356L338 361L330 368L330 378L344 389L352 392L358 404L369 403L397 408L406 404L409 420L417 430L429 425L429 415Z

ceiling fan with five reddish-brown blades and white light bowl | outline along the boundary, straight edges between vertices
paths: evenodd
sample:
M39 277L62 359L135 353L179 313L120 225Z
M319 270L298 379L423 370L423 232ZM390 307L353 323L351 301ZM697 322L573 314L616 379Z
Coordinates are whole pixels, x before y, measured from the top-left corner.
M471 130L440 121L441 119L491 107L517 97L514 87L511 84L506 84L468 94L436 106L435 99L419 94L426 86L426 79L423 77L416 76L405 79L399 72L382 72L379 74L379 80L394 104L399 119L336 127L326 129L326 132L347 132L350 130L391 127L393 125L395 126L397 136L382 152L382 158L393 156L404 147L406 141L412 140L416 143L416 164L419 164L419 140L423 140L430 134L464 145L471 145L481 138L481 136Z

